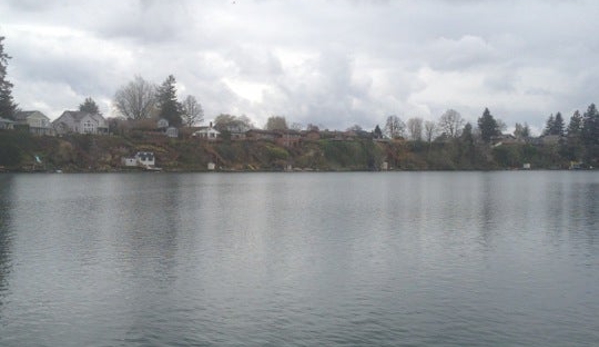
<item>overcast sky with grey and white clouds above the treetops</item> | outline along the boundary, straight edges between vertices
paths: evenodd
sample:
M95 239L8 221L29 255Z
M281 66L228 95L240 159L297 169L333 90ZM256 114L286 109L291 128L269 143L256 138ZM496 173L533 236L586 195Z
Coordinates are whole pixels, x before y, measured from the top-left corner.
M599 102L598 18L596 0L3 0L0 36L15 102L51 119L86 97L118 116L135 76L173 75L204 123L370 130L489 108L534 132Z

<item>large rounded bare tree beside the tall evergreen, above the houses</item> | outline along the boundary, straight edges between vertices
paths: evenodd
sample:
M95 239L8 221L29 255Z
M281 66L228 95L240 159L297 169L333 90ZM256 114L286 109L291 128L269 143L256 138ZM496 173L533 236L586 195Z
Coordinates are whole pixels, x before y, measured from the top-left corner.
M114 107L130 119L150 118L156 104L156 86L141 76L122 86L114 95Z

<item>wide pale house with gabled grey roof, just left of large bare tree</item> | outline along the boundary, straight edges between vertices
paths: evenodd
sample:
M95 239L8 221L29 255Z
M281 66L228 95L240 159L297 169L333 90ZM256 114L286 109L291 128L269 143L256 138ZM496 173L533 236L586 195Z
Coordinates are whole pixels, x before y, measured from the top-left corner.
M58 134L107 134L108 123L100 114L81 111L64 111L52 122Z

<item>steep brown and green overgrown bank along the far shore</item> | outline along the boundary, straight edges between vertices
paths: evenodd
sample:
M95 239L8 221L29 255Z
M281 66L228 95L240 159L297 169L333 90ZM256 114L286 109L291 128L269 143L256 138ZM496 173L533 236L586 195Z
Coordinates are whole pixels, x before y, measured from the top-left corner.
M122 159L152 152L167 172L566 169L555 146L448 142L306 140L292 147L268 140L202 141L165 136L33 136L0 131L0 172L126 172Z

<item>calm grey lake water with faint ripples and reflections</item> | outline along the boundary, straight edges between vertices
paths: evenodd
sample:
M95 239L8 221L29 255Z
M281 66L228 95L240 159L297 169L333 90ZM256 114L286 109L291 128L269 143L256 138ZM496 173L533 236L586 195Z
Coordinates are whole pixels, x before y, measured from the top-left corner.
M0 175L0 346L599 344L599 172Z

